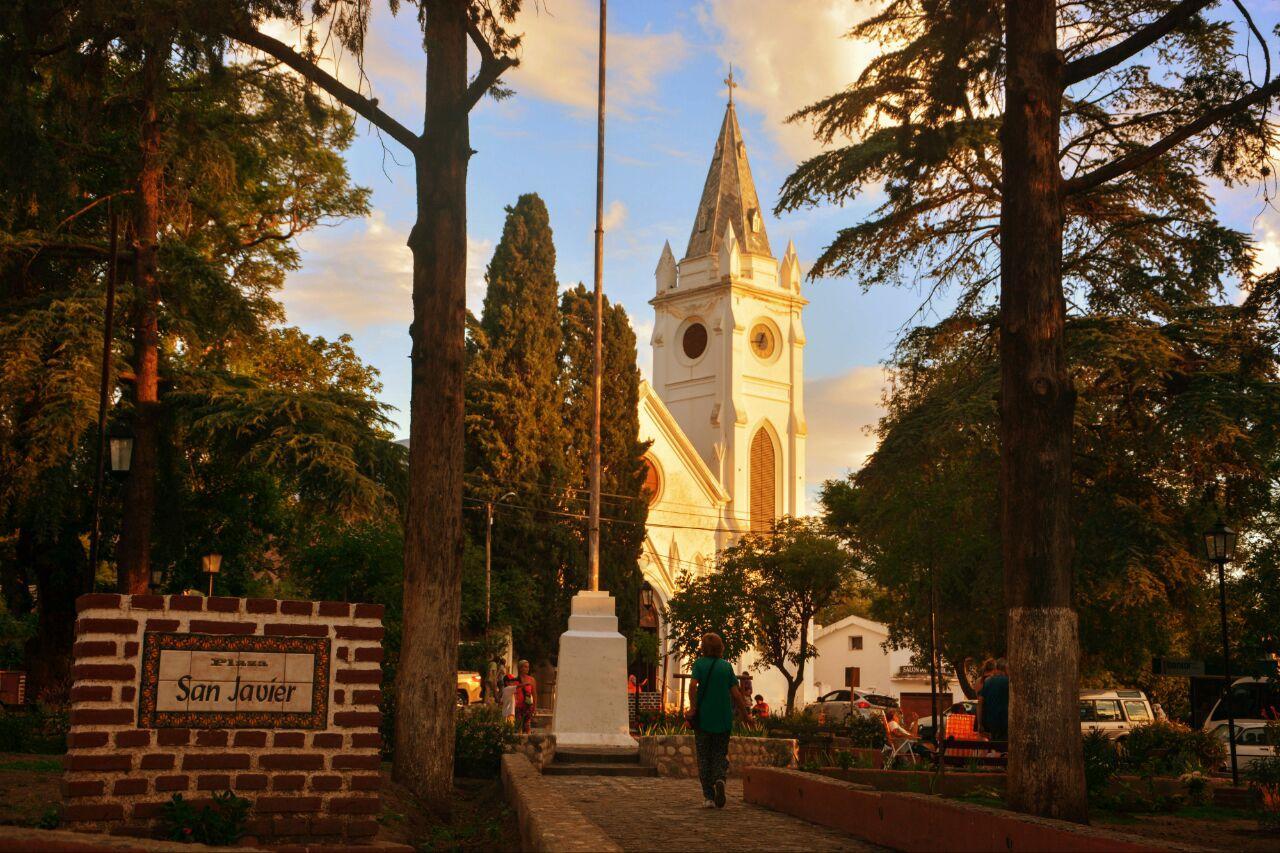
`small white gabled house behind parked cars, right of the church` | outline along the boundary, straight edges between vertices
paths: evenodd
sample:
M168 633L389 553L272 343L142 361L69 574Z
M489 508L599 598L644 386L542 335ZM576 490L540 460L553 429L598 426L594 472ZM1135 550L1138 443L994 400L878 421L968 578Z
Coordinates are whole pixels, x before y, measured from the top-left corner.
M809 666L814 670L818 695L854 686L896 698L908 717L929 716L929 671L911 663L911 649L886 649L887 639L887 626L861 616L815 626L813 644L818 657ZM943 671L942 675L951 674ZM954 678L938 685L940 708L960 698Z

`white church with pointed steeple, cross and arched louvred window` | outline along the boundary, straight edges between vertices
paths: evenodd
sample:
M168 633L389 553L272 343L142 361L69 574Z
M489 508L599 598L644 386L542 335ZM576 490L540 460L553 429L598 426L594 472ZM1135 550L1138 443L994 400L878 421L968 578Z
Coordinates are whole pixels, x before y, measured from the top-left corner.
M783 515L805 514L804 327L800 261L778 261L751 179L732 86L685 256L663 246L655 270L653 380L640 386L640 439L649 521L640 567L641 626L667 652L662 605L682 573L714 570L716 555ZM736 661L740 670L750 657ZM678 695L680 662L652 667ZM813 667L809 666L812 672ZM808 679L812 681L812 675ZM754 674L782 707L786 681ZM797 701L812 699L805 684Z

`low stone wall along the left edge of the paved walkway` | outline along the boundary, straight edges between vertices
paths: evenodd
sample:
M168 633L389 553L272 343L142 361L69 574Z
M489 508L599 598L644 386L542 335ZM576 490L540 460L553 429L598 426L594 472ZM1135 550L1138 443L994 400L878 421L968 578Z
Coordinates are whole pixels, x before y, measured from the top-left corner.
M502 788L520 825L520 849L532 853L621 852L613 839L547 785L521 753L502 757Z

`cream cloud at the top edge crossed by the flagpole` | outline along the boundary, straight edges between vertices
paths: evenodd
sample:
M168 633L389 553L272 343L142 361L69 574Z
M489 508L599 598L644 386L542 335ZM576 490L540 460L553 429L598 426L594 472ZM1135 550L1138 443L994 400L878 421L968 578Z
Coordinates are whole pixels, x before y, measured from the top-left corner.
M529 93L584 113L595 111L599 17L591 0L526 3L512 26L524 33L520 67L504 76ZM678 32L625 33L611 28L608 42L609 111L623 115L657 106L658 78L689 55Z

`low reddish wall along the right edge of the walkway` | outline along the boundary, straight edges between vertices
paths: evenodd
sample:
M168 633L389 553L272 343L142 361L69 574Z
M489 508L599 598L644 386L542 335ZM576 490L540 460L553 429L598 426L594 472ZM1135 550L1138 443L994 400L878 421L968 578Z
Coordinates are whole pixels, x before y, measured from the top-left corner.
M925 794L878 792L855 783L772 767L742 777L746 802L849 833L895 850L1201 850Z

